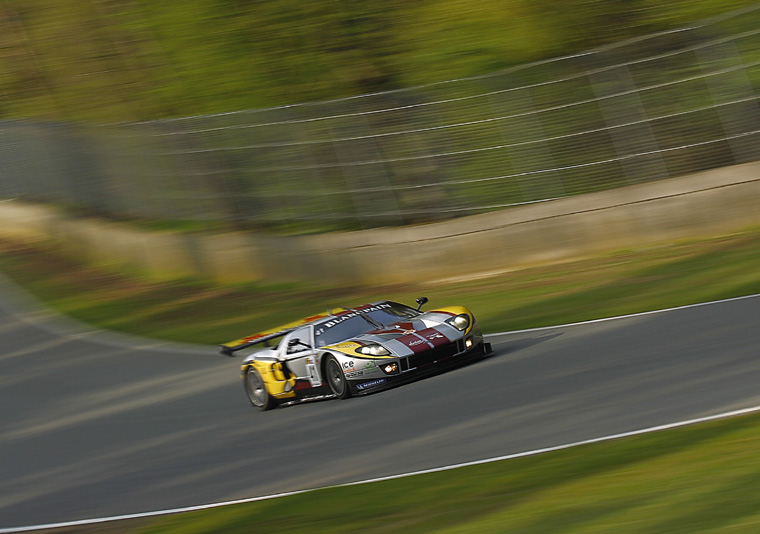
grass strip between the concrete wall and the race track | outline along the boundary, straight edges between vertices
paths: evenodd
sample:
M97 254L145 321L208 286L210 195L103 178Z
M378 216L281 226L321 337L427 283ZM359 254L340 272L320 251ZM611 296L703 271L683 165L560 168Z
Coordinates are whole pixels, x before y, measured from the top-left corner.
M486 332L499 332L760 293L757 228L467 282L392 287L157 283L43 249L5 243L0 252L0 270L62 313L107 329L212 344L384 298L413 303L425 295L428 309L462 304Z

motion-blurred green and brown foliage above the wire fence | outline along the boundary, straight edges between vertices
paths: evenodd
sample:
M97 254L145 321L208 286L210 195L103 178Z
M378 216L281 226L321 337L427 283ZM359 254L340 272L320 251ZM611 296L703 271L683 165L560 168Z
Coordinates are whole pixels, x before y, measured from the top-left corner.
M0 118L130 121L484 74L747 0L5 0Z

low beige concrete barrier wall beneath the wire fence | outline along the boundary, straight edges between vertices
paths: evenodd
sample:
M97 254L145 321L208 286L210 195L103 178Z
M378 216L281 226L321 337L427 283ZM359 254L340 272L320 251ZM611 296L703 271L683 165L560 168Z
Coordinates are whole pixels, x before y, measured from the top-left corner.
M52 242L96 264L169 280L333 286L480 278L758 222L760 162L434 224L318 235L151 232L39 204L0 202L0 236Z

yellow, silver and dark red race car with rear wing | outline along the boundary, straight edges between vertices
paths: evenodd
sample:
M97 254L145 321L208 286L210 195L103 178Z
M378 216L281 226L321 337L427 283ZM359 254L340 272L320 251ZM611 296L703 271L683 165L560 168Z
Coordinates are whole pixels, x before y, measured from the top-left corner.
M337 308L221 345L222 354L263 345L243 360L253 406L379 391L491 352L462 306L422 312L391 301Z

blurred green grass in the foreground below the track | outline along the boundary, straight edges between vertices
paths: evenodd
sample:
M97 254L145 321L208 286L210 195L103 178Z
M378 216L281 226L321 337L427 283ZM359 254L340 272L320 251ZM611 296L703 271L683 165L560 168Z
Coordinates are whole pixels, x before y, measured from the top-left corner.
M172 532L760 531L760 416L152 522Z

